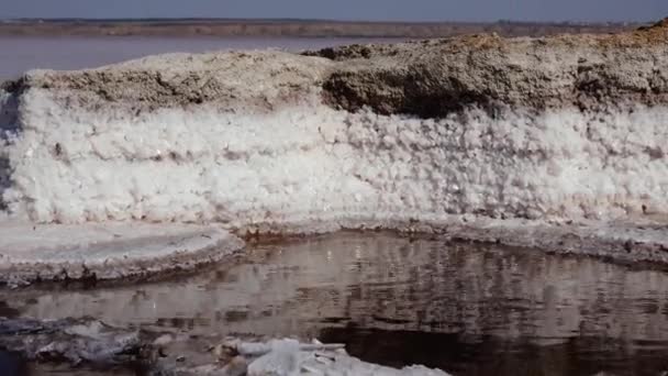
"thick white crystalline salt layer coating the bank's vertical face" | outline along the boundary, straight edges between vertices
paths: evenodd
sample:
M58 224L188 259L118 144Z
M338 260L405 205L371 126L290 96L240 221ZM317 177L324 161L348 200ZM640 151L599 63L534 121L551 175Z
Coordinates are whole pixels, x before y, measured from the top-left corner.
M548 220L668 212L668 109L443 120L320 104L270 113L209 104L140 114L22 97L3 153L12 215L49 223L409 221L474 213Z

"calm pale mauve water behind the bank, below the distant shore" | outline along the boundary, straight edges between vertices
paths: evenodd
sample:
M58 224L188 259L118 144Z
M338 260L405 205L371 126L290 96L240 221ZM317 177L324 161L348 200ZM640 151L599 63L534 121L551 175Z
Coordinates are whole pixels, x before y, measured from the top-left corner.
M0 81L30 69L82 69L146 55L222 49L285 48L301 51L391 38L325 37L16 37L0 36Z

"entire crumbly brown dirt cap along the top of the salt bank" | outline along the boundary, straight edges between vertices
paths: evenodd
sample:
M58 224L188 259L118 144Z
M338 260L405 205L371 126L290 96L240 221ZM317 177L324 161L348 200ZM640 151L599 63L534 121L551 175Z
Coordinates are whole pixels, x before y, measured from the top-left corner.
M505 38L492 33L301 55L172 54L92 70L33 71L4 87L57 89L69 104L131 106L137 112L203 103L271 111L314 98L336 109L369 107L421 118L468 107L492 113L502 106L600 111L668 102L668 21L610 35Z

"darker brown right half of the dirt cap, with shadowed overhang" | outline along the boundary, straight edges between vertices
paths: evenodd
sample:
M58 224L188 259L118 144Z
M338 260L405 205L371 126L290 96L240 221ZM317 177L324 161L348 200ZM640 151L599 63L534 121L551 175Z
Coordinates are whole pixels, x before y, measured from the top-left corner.
M600 109L668 101L668 21L612 35L496 34L307 53L337 62L324 99L357 111L443 117L477 106Z

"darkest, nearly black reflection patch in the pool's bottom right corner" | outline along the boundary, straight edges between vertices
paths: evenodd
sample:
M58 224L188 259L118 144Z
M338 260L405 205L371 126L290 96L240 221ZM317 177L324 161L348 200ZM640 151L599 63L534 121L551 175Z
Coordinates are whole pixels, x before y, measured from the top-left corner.
M329 342L343 341L350 353L369 362L390 366L424 364L455 375L591 376L604 371L613 375L661 375L661 369L668 369L665 347L631 355L624 352L623 342L601 338L572 336L558 344L541 346L522 339L480 336L474 340L457 333L356 328L325 329L321 338Z

